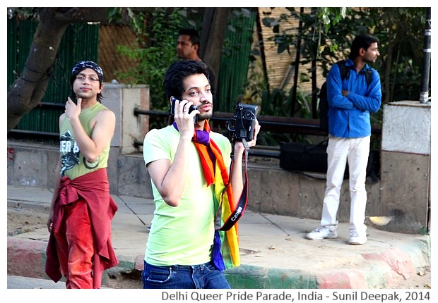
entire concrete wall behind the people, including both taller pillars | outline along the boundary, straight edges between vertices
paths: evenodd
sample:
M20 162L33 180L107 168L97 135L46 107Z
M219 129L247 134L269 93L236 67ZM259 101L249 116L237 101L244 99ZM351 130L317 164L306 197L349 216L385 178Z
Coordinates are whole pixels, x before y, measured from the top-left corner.
M109 154L112 194L153 198L141 149L148 132L148 87L105 84L104 104L116 113L117 125ZM367 216L393 216L381 229L425 233L430 229L430 103L394 102L384 106L381 180L367 179ZM8 140L8 185L52 188L58 147ZM325 175L292 173L278 159L249 157L248 209L268 214L321 218ZM348 222L350 193L344 180L338 221Z

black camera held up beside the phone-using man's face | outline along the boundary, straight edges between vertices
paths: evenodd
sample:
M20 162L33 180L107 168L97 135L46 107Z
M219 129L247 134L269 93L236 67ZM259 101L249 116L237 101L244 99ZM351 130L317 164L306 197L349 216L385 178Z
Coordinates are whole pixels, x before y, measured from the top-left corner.
M254 138L254 125L259 106L237 103L235 112L227 122L227 129L237 141L251 141Z

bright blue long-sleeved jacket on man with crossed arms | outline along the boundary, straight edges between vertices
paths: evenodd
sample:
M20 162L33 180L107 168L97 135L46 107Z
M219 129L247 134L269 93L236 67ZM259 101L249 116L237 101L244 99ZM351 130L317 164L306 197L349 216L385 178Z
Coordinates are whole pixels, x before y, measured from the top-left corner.
M339 66L335 64L327 75L327 101L329 102L329 135L358 138L371 135L369 113L376 113L381 105L380 76L377 70L365 64L357 73L351 59L345 61L350 76L341 81ZM367 87L365 70L372 70L372 80ZM343 97L342 91L348 90Z

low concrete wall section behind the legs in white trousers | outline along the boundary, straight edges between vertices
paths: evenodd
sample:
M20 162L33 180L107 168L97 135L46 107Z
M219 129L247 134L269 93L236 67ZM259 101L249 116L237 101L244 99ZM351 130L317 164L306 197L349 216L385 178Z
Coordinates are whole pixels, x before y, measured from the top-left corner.
M326 187L325 174L285 171L271 163L249 163L249 208L254 211L298 218L321 219ZM367 178L367 213L374 216L380 200L380 184ZM350 192L344 180L338 209L338 221L350 219Z

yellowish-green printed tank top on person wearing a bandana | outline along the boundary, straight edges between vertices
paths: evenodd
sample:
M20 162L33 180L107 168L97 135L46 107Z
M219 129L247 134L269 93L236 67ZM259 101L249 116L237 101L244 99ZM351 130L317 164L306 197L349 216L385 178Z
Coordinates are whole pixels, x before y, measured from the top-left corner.
M91 137L91 133L93 132L93 128L91 128L91 120L93 120L97 113L105 111L106 109L107 107L103 106L100 102L97 102L95 105L88 109L84 109L79 114L79 120L89 137ZM59 175L61 175L61 177L66 175L73 180L74 178L78 178L86 173L91 173L97 171L97 169L107 167L109 146L111 142L108 142L107 147L103 149L102 154L99 155L95 162L90 163L86 161L73 137L71 124L67 118L61 123L59 141L59 152L61 153L61 171L59 171Z

